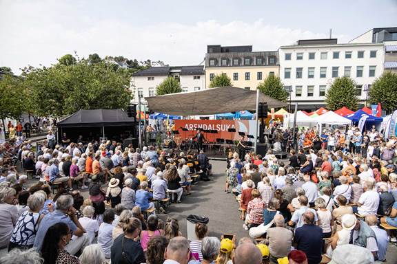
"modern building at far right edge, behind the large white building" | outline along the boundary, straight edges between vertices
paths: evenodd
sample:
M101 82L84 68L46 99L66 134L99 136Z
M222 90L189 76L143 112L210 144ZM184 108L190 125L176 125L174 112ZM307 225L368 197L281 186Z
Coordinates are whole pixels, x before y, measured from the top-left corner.
M373 28L349 43L384 43L385 71L397 72L397 27Z

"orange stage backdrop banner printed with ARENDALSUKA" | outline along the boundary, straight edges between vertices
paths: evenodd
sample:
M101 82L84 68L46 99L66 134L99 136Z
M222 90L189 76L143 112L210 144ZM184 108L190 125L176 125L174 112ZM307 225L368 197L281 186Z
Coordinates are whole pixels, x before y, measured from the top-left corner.
M196 129L216 130L218 133L204 133L205 139L209 142L216 142L217 138L224 140L240 140L238 132L244 132L245 135L255 136L255 120L174 120L175 130L179 131L179 137L189 139L196 135ZM182 128L188 131L183 131ZM228 132L227 129L236 129L236 132ZM247 140L247 137L245 137Z

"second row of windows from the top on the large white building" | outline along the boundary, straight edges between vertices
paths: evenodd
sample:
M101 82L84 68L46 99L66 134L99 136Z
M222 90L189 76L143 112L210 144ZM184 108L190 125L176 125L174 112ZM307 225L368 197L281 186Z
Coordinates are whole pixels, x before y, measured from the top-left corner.
M314 78L315 67L307 68L307 78ZM295 77L297 79L303 78L303 67L298 67L295 69L296 74ZM284 69L284 78L291 78L292 68ZM363 77L364 66L356 66L356 77ZM368 67L368 77L374 77L376 72L376 66ZM332 78L336 78L339 76L339 67L332 67ZM343 76L352 77L352 66L343 67ZM320 78L327 78L327 67L320 67Z

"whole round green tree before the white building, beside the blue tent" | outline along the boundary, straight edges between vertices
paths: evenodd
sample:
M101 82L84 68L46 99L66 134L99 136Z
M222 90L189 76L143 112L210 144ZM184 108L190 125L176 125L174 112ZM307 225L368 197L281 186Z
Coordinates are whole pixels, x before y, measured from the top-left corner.
M349 77L338 77L329 87L325 94L325 103L327 109L336 110L341 107L347 107L356 110L358 106L358 97L356 94L356 82Z

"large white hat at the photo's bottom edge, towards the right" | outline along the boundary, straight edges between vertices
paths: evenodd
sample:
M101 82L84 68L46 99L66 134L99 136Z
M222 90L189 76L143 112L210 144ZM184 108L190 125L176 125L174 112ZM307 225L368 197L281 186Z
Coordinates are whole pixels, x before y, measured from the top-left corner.
M352 214L350 214L352 215ZM332 253L329 264L369 264L374 262L374 255L367 248L358 245L338 245Z

